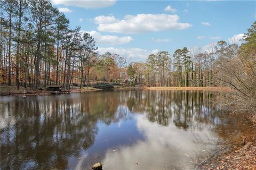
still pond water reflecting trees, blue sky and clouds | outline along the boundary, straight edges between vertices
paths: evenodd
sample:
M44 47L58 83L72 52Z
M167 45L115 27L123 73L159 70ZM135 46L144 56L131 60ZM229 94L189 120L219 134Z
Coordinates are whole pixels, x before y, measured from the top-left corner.
M1 97L1 169L193 169L236 122L199 91ZM218 97L218 96L217 96ZM138 164L135 164L138 163Z

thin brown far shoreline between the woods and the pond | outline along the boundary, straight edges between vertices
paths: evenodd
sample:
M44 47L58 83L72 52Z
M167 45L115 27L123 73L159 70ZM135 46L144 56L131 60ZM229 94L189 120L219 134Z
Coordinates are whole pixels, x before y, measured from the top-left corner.
M15 86L2 86L1 88L13 88ZM21 88L20 90L23 90ZM82 89L74 88L70 89L69 92L63 92L61 94L71 94L76 92L86 92L86 91L99 91L104 89L96 89L93 87L84 87ZM234 90L229 87L125 87L125 86L114 86L114 90L194 90L194 91L219 91L219 92L233 92ZM2 90L1 90L2 91ZM56 95L52 94L51 91L32 91L29 90L27 94L23 94L23 92L13 92L13 91L6 91L1 92L0 96L35 96L35 95Z

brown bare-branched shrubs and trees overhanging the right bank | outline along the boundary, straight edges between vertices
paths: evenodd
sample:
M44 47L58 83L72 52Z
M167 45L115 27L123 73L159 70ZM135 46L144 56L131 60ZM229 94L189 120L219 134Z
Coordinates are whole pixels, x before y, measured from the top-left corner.
M235 90L228 96L231 99L228 104L234 112L256 113L256 22L245 36L240 47L219 42L221 48L217 52L221 56L215 74Z

